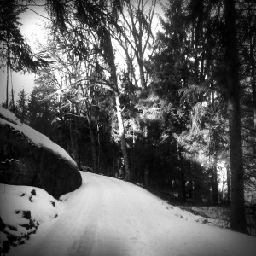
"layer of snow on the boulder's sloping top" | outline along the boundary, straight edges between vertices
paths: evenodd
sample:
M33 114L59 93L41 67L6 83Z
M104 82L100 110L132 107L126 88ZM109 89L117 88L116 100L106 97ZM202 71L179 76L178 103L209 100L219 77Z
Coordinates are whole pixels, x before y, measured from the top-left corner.
M65 149L52 142L49 137L46 137L44 134L32 129L32 127L26 124L21 123L20 119L18 119L14 113L11 113L8 109L3 108L2 106L0 106L0 125L10 125L16 131L20 131L21 133L23 133L35 145L43 148L48 148L49 151L60 155L63 159L69 161L76 166L75 161L70 157Z

